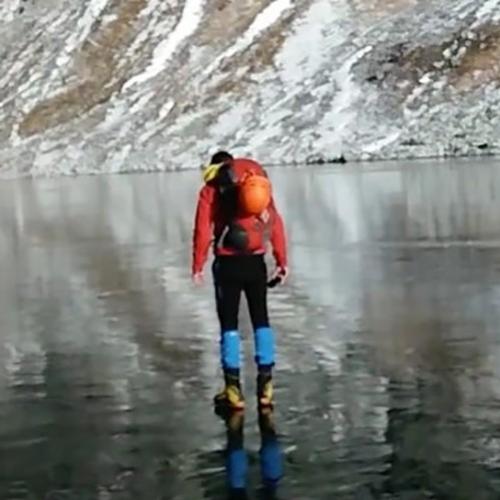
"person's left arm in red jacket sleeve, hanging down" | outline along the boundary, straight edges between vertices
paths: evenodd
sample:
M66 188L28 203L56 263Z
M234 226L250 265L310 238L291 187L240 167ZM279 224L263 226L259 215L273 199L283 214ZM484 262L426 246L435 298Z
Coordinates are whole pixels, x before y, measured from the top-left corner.
M201 275L212 241L214 188L205 185L200 190L193 230L193 276Z

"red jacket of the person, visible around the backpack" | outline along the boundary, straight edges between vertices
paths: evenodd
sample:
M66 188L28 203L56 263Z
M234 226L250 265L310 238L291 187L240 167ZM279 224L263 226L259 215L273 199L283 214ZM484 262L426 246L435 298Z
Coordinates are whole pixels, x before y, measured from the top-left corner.
M232 170L236 178L239 178L244 172L248 171L266 175L264 169L257 162L245 158L233 160ZM220 235L227 223L225 214L222 213L221 207L217 203L216 195L216 187L210 183L205 184L199 193L193 231L193 274L203 271L203 267L208 258L210 245L214 241L214 236ZM273 247L273 256L277 266L286 267L287 251L285 227L283 219L274 203L274 199L271 199L268 212L270 243ZM262 246L254 253L264 254L266 250L266 247ZM236 255L238 252L234 249L217 245L214 247L214 253L215 255Z

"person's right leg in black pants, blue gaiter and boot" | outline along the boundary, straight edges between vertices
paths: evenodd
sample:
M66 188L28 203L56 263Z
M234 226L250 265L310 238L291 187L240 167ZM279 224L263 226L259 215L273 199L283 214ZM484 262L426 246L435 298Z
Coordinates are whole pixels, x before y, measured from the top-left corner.
M267 269L264 258L253 259L249 267L253 269L249 270L244 290L254 330L257 393L259 404L267 406L272 403L272 369L275 364L275 338L267 308Z

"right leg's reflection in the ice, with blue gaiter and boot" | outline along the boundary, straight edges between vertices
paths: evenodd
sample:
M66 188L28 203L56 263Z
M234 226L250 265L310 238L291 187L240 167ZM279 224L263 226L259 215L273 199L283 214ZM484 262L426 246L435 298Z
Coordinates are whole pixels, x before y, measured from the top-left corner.
M270 408L259 411L262 498L268 500L275 498L278 483L283 476L283 458L273 417Z

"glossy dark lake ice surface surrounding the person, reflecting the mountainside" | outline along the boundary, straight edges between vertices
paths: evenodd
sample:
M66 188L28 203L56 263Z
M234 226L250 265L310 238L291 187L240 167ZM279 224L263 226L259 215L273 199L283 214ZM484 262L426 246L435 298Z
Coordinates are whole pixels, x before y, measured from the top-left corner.
M500 168L272 177L292 274L262 432L245 312L244 421L211 407L199 172L0 184L0 498L224 499L241 444L252 499L262 457L280 499L500 497Z

